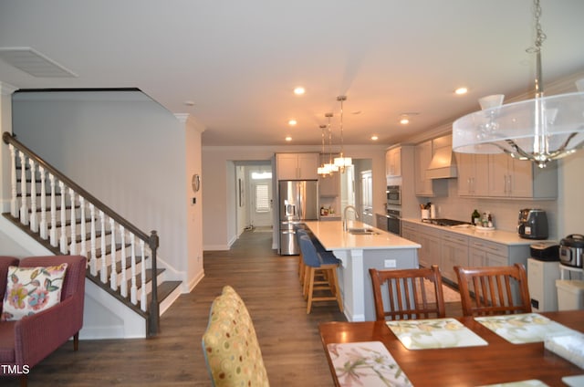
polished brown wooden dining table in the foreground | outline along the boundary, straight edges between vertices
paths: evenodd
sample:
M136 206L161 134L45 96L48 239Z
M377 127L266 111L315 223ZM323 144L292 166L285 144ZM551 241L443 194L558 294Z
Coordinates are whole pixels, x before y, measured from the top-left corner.
M556 327L568 329L576 335L581 336L581 332L584 332L584 310L540 312L533 316L536 319L547 319ZM567 380L579 378L575 375L584 374L584 370L579 365L549 350L543 340L516 343L496 333L498 330L487 328L480 322L480 318L458 317L452 320L454 321L450 321L450 324L462 324L463 328L470 330L469 334L482 344L408 349L404 345L406 341L398 337L400 331L396 330L398 332L396 335L390 328L391 321L383 320L323 322L319 324L318 329L327 354L332 379L337 386L370 385L360 384L359 371L350 368L350 361L355 359L356 350L362 350L362 343L367 345L377 343L381 350L377 348L372 351L375 353L389 351L392 360L397 363L394 367L399 367L396 370L397 375L402 378L402 383L386 382L381 385L485 386L536 381L528 385L567 386L572 385L567 384ZM351 344L355 346L349 347ZM352 353L353 358L349 356L347 358L349 360L339 363L336 359L340 356L339 350L343 345L346 346L344 350ZM583 349L580 347L580 350ZM373 362L381 361L377 357ZM407 378L405 378L406 375ZM579 379L579 382L584 382L584 380ZM579 382L573 385L582 385L578 384Z

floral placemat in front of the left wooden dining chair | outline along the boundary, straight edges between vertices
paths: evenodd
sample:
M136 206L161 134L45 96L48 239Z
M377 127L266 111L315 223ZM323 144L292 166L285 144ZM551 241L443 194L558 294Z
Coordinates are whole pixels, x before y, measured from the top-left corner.
M487 345L456 319L401 319L387 325L408 350Z

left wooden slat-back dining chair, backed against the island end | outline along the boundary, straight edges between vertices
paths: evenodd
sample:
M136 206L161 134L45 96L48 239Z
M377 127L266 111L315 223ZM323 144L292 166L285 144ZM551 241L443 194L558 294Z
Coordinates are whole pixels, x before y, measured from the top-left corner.
M442 275L437 265L399 270L370 268L369 273L376 319L445 316Z

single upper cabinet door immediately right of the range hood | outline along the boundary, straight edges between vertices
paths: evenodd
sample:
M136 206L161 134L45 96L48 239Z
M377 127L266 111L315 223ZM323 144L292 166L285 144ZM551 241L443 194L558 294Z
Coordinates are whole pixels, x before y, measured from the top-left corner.
M489 158L487 154L455 153L460 196L488 196Z

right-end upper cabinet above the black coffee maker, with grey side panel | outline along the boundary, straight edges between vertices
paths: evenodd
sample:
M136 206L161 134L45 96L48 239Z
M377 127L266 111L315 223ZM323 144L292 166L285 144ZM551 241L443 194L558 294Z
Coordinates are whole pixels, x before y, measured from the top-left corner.
M534 162L516 160L505 153L489 155L489 189L491 197L555 198L558 196L558 173L555 162L546 168Z

